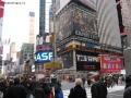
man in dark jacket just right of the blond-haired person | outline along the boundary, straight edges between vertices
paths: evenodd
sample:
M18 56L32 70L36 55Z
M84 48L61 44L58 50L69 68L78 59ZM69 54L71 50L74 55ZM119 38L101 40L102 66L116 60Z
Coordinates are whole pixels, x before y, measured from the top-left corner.
M99 76L95 77L95 83L91 87L92 98L107 98L107 87Z

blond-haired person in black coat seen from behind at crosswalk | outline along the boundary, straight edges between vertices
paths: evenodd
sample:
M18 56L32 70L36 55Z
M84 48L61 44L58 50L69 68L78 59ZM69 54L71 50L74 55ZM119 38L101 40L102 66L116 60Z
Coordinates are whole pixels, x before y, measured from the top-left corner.
M82 79L75 79L75 87L70 89L69 98L87 98L86 90L82 88Z

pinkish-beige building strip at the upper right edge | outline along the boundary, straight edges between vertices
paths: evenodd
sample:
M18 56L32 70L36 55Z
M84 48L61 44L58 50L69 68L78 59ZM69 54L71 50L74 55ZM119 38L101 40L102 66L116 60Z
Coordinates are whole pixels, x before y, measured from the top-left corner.
M121 13L124 33L121 34L123 49L131 47L131 0L121 0Z

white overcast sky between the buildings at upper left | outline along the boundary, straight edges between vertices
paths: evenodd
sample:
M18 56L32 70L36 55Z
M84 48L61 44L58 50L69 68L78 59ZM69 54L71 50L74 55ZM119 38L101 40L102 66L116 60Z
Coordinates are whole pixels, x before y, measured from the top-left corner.
M5 4L3 16L2 39L11 38L20 50L22 42L27 41L28 13L35 12L35 34L38 34L39 0L4 0L5 2L25 2L25 4ZM9 46L4 46L3 59L9 52Z

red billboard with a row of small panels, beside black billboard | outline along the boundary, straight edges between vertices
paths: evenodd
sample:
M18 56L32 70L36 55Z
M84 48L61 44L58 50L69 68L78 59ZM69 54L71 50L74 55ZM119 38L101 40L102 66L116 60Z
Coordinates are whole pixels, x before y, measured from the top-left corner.
M100 68L103 73L116 73L123 69L123 59L118 56L100 56Z

